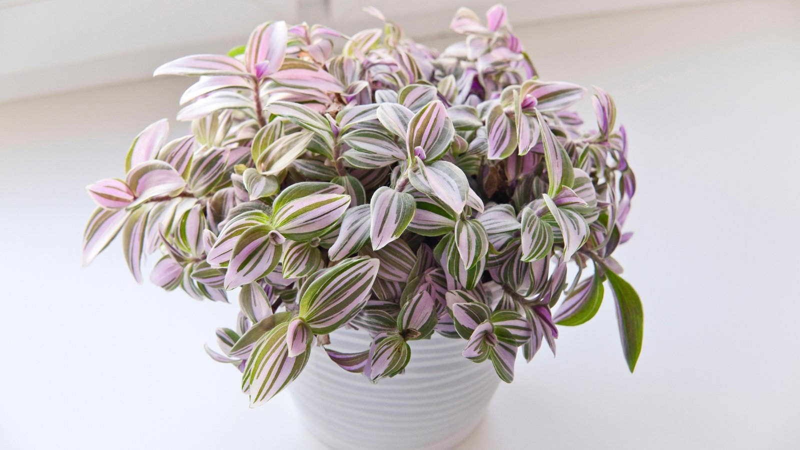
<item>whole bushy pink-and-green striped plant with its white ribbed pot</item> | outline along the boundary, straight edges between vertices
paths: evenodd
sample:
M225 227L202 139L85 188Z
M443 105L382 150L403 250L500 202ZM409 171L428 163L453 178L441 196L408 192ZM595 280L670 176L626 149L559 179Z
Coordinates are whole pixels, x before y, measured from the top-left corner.
M199 77L178 113L191 133L153 123L124 179L88 187L84 262L122 235L139 282L148 255L167 290L238 290L238 323L206 352L253 407L297 380L338 448L458 443L517 353L554 349L604 283L633 371L642 306L612 254L635 181L610 95L595 88L582 128L586 90L539 78L502 6L458 10L466 41L442 53L369 12L382 28L267 22L159 67Z

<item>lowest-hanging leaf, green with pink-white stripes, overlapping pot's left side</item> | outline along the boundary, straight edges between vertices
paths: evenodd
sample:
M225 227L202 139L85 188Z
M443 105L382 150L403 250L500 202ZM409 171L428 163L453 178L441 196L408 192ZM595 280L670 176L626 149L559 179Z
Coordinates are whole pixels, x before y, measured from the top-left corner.
M289 323L278 324L258 340L247 360L242 385L250 387L250 408L266 403L294 381L306 367L311 340L306 344L306 352L293 358L289 356L289 348L286 346L288 331Z

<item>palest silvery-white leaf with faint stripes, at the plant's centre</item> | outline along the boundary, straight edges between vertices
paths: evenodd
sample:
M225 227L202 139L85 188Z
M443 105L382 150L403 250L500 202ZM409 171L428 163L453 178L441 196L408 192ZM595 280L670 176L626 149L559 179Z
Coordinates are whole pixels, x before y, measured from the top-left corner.
M426 164L417 158L417 167L410 171L409 179L417 191L441 202L456 215L464 211L470 184L454 163L435 161Z

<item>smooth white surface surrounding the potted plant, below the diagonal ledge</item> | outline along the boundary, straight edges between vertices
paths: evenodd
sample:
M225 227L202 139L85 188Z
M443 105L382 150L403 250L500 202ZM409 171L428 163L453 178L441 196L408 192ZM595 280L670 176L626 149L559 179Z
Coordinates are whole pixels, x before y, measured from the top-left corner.
M512 21L536 5L514 4ZM590 323L561 327L558 358L518 361L462 448L800 448L800 3L610 10L515 31L542 78L617 102L638 192L616 256L645 340L631 375L606 298ZM440 48L455 38L431 35ZM58 77L0 103L0 448L322 448L289 395L250 410L238 372L203 353L236 306L138 286L119 243L80 267L83 187L124 175L130 139L172 119L190 81L50 92Z

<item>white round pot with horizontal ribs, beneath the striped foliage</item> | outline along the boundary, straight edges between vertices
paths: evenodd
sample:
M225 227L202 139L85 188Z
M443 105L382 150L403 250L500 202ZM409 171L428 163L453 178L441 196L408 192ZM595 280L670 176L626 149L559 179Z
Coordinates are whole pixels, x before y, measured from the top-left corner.
M354 330L334 331L330 341L339 352L361 352L370 342ZM434 334L409 344L406 372L377 384L313 348L289 388L306 428L336 450L440 450L465 440L498 387L494 368L466 360L465 340Z

